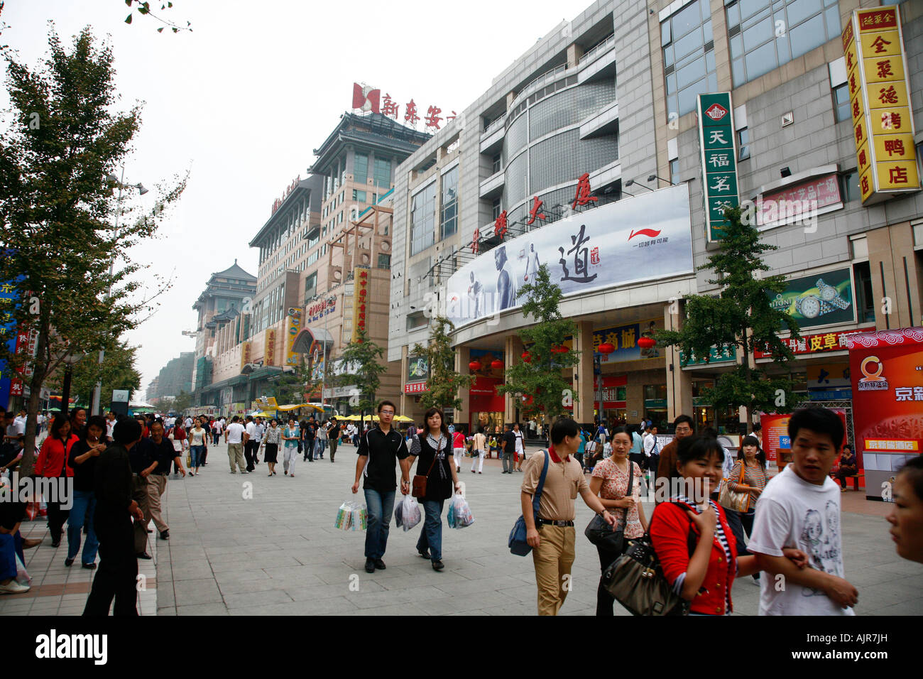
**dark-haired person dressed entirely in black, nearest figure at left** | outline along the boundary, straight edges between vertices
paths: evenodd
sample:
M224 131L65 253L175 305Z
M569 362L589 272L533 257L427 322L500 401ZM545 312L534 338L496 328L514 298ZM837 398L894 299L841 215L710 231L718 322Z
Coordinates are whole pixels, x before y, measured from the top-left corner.
M131 517L140 524L144 516L132 500L130 451L141 438L141 425L125 418L115 424L114 443L103 451L94 469L96 511L93 527L100 540L100 567L93 578L84 615L108 615L115 598L115 615L138 615L138 559L131 536ZM146 537L146 536L145 536Z

